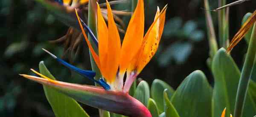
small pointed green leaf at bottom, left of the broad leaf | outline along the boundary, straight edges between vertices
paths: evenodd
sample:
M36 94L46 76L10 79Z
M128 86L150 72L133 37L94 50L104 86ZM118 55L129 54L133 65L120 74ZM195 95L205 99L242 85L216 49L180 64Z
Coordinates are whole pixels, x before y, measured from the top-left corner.
M163 98L164 98L164 104L165 104L164 111L166 113L166 117L180 117L177 110L170 102L167 91L168 91L168 89L165 89L163 92Z

